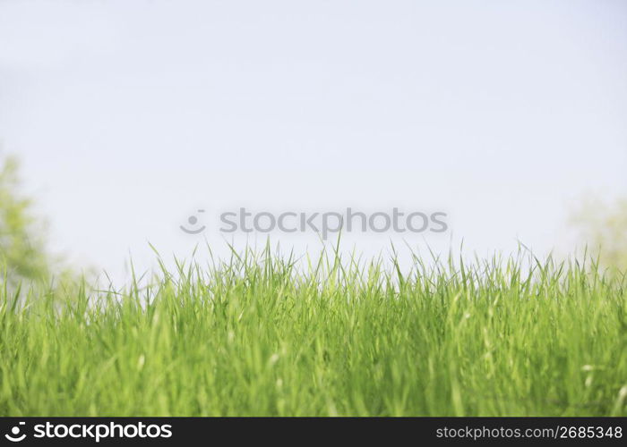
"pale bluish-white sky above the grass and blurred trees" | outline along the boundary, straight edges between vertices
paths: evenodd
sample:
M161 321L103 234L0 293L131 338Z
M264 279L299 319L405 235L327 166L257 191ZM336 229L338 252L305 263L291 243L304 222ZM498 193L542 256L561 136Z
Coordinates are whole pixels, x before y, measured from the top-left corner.
M448 213L347 235L366 254L545 252L582 195L627 194L625 123L622 0L0 0L0 150L54 249L114 275L148 241L223 252L242 206Z

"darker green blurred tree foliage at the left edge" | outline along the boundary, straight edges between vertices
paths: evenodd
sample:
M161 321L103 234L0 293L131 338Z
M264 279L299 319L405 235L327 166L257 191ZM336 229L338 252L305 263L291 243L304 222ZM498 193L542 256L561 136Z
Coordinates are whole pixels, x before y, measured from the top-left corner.
M0 283L47 279L50 262L42 228L21 197L18 163L0 159Z

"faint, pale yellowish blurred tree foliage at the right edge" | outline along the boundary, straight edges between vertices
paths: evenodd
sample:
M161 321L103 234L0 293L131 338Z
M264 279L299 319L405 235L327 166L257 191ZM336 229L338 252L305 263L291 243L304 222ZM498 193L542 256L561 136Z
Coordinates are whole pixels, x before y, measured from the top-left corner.
M574 223L601 266L627 272L627 198L611 204L588 198L575 213Z

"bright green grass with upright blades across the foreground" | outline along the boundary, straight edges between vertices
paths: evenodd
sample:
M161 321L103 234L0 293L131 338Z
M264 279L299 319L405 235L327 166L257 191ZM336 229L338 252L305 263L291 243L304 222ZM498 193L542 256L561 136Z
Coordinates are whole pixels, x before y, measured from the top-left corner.
M627 415L623 277L430 265L246 251L122 292L2 291L0 415Z

